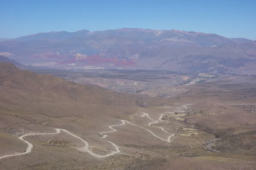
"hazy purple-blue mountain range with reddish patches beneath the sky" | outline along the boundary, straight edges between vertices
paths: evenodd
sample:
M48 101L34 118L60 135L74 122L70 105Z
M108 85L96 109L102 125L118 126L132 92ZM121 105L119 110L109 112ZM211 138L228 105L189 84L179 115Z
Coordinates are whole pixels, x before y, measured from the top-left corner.
M256 66L256 41L175 29L60 31L1 41L0 55L24 65L67 70L248 73Z

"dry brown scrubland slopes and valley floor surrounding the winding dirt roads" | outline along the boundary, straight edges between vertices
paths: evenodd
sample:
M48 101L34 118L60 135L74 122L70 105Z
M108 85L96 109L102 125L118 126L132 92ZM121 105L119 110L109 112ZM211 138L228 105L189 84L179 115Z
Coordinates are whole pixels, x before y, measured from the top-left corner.
M97 158L77 150L84 143L63 131L27 136L32 152L0 159L0 169L255 170L255 82L229 75L180 86L186 91L173 98L147 97L0 63L0 156L26 150L20 135L54 133L52 127L81 137L99 155L115 150L108 141L120 149Z

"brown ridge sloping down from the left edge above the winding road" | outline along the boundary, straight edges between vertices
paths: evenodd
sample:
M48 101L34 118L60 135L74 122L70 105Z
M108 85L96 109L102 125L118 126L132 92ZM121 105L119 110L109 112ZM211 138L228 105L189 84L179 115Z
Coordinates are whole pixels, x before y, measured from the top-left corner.
M22 90L28 94L35 93L38 98L41 95L47 95L56 100L65 98L69 101L86 104L122 107L141 105L144 100L133 94L123 94L91 85L78 85L75 82L52 75L39 75L30 71L22 71L12 63L0 62L0 77L1 88L15 88L16 91Z

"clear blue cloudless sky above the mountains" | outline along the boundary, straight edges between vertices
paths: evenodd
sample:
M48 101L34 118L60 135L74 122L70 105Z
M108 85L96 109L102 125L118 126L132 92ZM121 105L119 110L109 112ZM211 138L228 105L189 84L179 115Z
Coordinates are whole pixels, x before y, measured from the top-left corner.
M256 0L0 0L0 23L2 38L125 27L256 40Z

